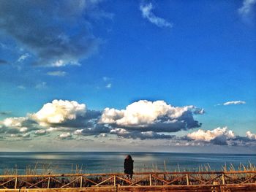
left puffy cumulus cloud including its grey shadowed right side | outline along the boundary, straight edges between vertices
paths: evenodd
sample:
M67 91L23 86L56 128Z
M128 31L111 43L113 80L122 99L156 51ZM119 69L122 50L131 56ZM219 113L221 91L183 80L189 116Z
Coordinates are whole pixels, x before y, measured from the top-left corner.
M77 101L53 100L44 104L36 113L29 114L29 118L39 126L45 127L47 132L83 130L81 135L96 135L108 133L109 128L97 124L101 112L87 110L86 104ZM74 133L79 135L78 131Z

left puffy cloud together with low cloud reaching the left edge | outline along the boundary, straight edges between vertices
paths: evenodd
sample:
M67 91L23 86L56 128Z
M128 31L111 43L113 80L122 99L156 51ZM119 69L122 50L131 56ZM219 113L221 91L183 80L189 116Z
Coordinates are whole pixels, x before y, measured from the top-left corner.
M0 121L0 134L34 132L34 136L38 137L53 131L70 132L78 127L96 128L99 116L100 112L86 110L86 105L78 104L77 101L53 100L38 112L26 117L6 118ZM100 134L99 128L97 131Z

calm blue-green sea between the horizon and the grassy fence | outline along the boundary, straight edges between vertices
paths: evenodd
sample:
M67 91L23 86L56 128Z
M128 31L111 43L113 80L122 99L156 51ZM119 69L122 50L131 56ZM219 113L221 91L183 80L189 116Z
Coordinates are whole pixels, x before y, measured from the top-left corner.
M0 153L0 172L15 168L24 174L30 166L37 166L37 173L74 173L76 166L83 173L123 172L124 158L128 153L113 152L39 152ZM135 172L159 169L162 171L196 171L199 166L211 166L220 170L225 164L238 167L240 164L256 164L256 155L203 154L203 153L129 153L135 161Z

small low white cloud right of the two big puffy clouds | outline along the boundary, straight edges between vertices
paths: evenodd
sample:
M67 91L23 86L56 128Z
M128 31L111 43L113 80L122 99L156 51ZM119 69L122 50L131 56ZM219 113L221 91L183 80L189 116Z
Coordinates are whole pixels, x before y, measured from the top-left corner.
M187 134L187 137L197 141L214 142L216 144L225 144L227 139L236 139L234 132L228 130L227 127L215 128L214 130L199 129L195 132Z

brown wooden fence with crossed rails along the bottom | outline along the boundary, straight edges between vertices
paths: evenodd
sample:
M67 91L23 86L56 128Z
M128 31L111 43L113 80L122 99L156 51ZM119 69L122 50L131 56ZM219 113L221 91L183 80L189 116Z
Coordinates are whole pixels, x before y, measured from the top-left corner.
M246 185L256 183L256 171L233 172L139 172L132 180L127 174L36 174L0 175L0 189L50 189L154 186ZM0 190L1 191L1 190ZM256 191L256 185L255 185Z

